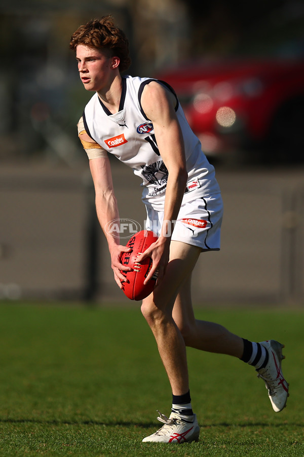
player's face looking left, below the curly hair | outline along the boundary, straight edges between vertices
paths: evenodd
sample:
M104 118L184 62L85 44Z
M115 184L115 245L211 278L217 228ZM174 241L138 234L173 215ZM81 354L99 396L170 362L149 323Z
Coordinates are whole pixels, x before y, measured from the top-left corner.
M76 49L78 71L86 90L106 89L111 82L113 57L96 48L78 45Z

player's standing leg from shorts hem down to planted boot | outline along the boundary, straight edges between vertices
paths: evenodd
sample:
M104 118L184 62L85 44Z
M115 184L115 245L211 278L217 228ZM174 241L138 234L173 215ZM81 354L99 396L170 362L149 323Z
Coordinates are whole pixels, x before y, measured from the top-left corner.
M185 342L172 318L178 288L185 274L193 270L200 250L185 243L177 243L177 246L174 254L170 252L170 262L163 281L142 303L142 313L156 338L173 394L170 416L160 413L158 419L164 425L145 437L144 442L198 441L200 434L197 417L191 406Z

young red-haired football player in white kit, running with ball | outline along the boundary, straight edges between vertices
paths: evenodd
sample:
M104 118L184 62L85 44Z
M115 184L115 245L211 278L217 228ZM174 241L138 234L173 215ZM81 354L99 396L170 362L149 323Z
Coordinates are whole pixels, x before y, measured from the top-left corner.
M148 281L158 270L157 287L141 311L153 332L172 388L172 410L163 426L144 442L196 441L200 428L189 392L186 346L229 354L252 365L268 388L275 411L287 400L277 341L250 342L221 325L197 320L191 302L191 274L198 257L220 247L222 200L214 168L189 127L174 90L166 82L122 76L130 65L128 40L111 16L81 25L72 35L81 81L93 91L78 124L88 154L96 210L120 288L123 252L106 225L119 218L109 154L142 178L146 228L159 238L138 257L153 259Z

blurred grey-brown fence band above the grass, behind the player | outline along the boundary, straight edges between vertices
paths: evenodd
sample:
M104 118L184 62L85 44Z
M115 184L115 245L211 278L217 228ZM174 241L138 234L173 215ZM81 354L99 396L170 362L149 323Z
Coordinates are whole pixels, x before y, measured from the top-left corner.
M142 227L139 180L112 162L120 216ZM217 171L222 248L201 255L196 304L303 303L301 170ZM87 165L0 172L0 298L129 303L113 280Z

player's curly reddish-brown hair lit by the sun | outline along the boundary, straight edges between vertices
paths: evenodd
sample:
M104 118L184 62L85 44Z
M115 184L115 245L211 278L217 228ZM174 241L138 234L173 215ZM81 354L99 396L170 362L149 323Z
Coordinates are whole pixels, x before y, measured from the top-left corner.
M120 72L124 72L130 67L129 41L123 30L116 27L110 15L78 27L71 36L70 49L76 51L78 45L109 50L111 57L120 58Z

